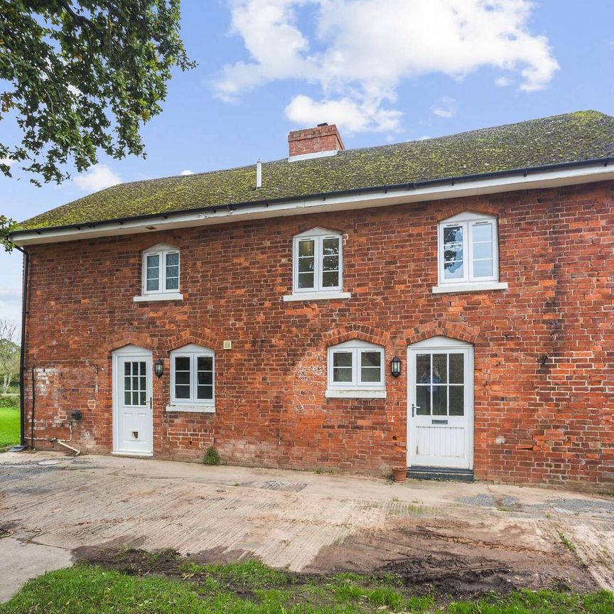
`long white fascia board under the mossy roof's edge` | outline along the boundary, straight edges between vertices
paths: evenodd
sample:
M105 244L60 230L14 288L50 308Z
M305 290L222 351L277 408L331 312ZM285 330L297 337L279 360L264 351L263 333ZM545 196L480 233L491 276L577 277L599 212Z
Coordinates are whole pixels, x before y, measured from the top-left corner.
M178 215L168 215L165 217L165 214L161 214L159 217L148 217L145 220L126 220L122 223L93 222L90 225L83 224L80 228L24 232L16 237L12 237L11 240L21 247L41 243L94 239L97 237L134 235L142 232L156 232L191 226L228 224L244 220L261 220L266 217L386 207L389 205L418 203L424 200L445 200L464 196L513 192L515 190L556 188L562 185L612 180L614 180L614 165L604 166L603 163L598 163L594 166L562 168L541 173L533 171L527 174L527 176L519 173L514 176L472 179L468 181L451 179L449 183L425 185L424 187L409 190L382 189L368 193L323 195L303 200L286 200L269 205L257 203L236 209L232 209L232 206L229 208L226 205L219 205L215 211L213 209L198 212L186 211Z

